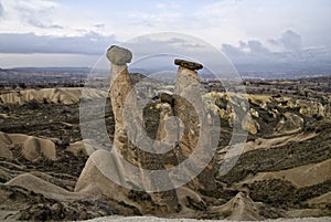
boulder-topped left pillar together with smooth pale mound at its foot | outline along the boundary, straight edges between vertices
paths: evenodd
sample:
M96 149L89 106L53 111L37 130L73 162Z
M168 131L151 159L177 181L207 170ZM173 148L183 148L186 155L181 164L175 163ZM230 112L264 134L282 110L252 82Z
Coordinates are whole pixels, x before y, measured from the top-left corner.
M151 187L162 187L162 184L159 184L158 178L145 175L142 169L162 170L164 167L158 154L147 152L139 147L141 145L151 148L153 144L146 139L142 134L145 123L137 108L137 96L135 89L132 89L132 82L126 64L131 61L131 52L119 46L111 46L107 51L107 57L111 62L109 96L115 117L114 150L110 152L104 150L93 152L90 160L87 161L79 177L76 190L88 189L95 183L94 178L90 177L93 172L93 175L103 178L102 181L104 182L98 182L97 184L102 193L115 199L119 195L124 200L129 193L129 189L127 189L129 187L132 189L138 187L142 191L145 191L145 187L147 190ZM109 157L104 157L106 155ZM94 160L96 157L98 160ZM102 163L96 163L99 161ZM126 171L128 169L125 168L125 161L140 169L140 171L137 171L136 175ZM129 178L131 176L135 179ZM126 184L127 188L115 184L110 179L114 177L117 181L121 181L121 184ZM167 178L162 179L167 181ZM169 179L168 182L170 182ZM178 210L179 204L175 190L150 192L149 195L153 204L159 205L163 212ZM140 205L140 210L147 213L147 209L143 205Z

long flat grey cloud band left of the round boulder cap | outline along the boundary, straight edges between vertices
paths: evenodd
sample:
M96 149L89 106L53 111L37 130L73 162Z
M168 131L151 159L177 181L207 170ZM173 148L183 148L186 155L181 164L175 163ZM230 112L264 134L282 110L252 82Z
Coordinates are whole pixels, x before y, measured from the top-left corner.
M73 53L100 55L109 45L118 43L115 36L89 32L83 36L51 36L33 33L0 33L0 53Z

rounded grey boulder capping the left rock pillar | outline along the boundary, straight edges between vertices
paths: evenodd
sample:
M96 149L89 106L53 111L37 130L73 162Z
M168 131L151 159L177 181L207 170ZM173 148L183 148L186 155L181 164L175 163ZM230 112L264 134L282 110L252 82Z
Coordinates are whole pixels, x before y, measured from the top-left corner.
M125 64L131 62L132 53L129 50L125 49L125 47L119 47L117 45L111 45L107 50L107 57L113 64L125 65Z

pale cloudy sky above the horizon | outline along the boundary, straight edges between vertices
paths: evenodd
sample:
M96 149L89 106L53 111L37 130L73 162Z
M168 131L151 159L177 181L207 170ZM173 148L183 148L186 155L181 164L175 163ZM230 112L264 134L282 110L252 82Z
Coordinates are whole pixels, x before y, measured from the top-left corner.
M0 0L0 67L93 66L111 44L162 32L235 64L331 67L330 21L330 0Z

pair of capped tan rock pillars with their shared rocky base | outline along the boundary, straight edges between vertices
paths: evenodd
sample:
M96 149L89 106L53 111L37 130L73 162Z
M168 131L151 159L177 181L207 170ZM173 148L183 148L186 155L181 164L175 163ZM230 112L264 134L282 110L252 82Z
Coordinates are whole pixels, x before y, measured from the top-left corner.
M128 184L129 181L134 187L158 188L160 186L162 188L163 184L159 184L160 178L148 177L142 169L164 170L175 167L190 158L196 146L202 147L202 151L195 154L202 162L204 159L212 159L210 156L213 154L205 150L211 149L211 146L216 147L218 138L212 137L212 123L210 123L212 119L204 108L197 73L194 71L195 68L202 68L202 65L188 61L175 62L181 64L178 70L175 91L173 95L164 93L160 95L161 103L158 104L159 128L156 134L157 140L152 142L152 140L143 137L143 118L138 112L136 92L132 89L132 82L125 64L131 61L131 53L126 49L111 46L107 51L107 57L111 62L109 96L115 117L114 148L110 152L97 149L90 155L75 190L79 192L89 190L92 193L102 192L110 198L128 202L129 200L126 197L130 192L130 189L127 189L129 187L120 187L110 178L115 176L117 181L125 184ZM79 145L77 145L78 148L73 146L72 150L74 152L77 151L76 149L84 150L82 147L79 148ZM150 152L146 151L142 149L143 147L152 150ZM157 150L159 148L167 148L170 151L159 154L160 150ZM85 151L88 152L88 150ZM130 180L131 175L128 176L126 165L121 159L140 169L136 172L137 180ZM180 172L193 177L199 175L197 178L192 178L193 180L185 186L185 189L192 190L192 193L195 193L193 190L214 190L216 188L212 162L206 163L209 163L207 167L203 166L203 171L199 171L200 175L194 171L196 170L195 167L185 168L185 172ZM169 177L171 177L171 181L170 178L162 178L162 181L169 182L169 184L172 182L181 183L181 181L178 181L182 179L181 176L172 177L169 175ZM114 190L116 190L116 194ZM175 212L179 210L179 204L183 204L180 202L178 192L174 189L149 192L149 195L152 203L157 204L163 212ZM146 204L137 202L130 204L139 208L141 212L146 213L148 211Z

